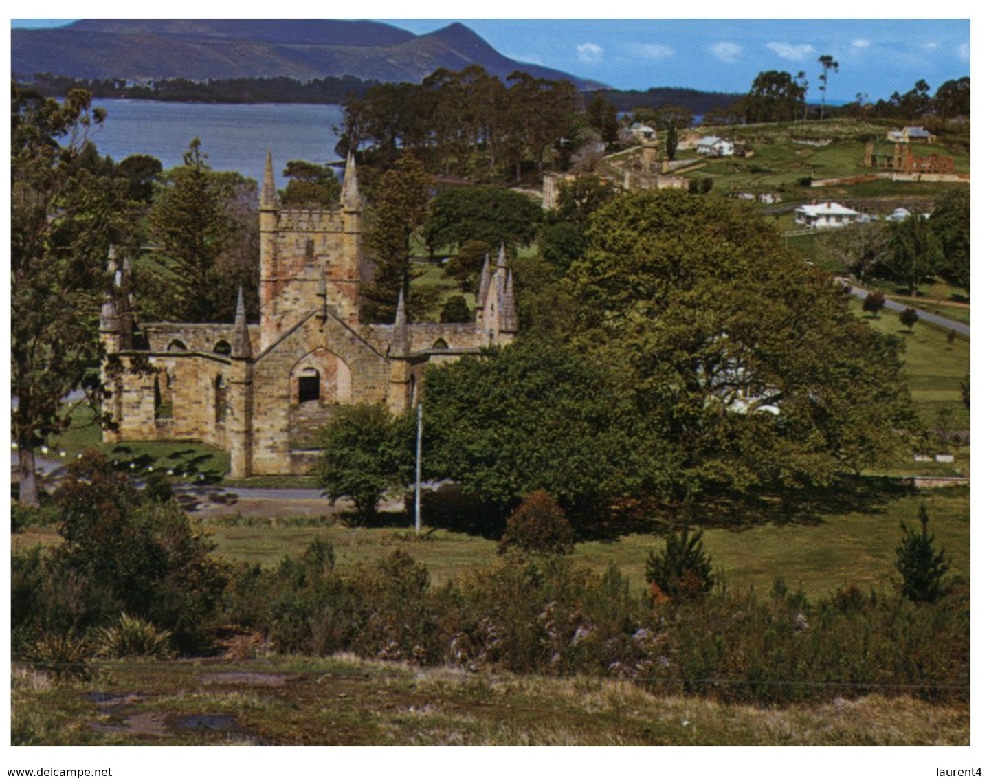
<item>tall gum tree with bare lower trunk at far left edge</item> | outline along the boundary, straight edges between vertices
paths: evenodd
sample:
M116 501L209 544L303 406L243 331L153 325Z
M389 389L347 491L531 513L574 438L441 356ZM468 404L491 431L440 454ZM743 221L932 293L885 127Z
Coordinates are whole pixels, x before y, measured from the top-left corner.
M58 102L12 86L11 426L26 505L38 504L36 450L68 425L63 400L96 399L107 254L136 244L129 181L86 141L103 119L87 92Z

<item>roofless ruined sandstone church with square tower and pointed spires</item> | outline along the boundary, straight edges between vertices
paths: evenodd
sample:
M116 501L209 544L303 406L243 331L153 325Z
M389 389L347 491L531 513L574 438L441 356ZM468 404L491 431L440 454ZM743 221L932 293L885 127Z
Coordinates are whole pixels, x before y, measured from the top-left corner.
M113 422L104 442L201 441L229 451L233 477L302 475L336 408L380 402L400 413L417 401L427 365L511 341L517 319L503 249L494 267L486 261L474 322L409 323L396 290L395 322L362 324L359 287L372 271L362 210L353 158L338 208L282 208L269 153L257 324L247 323L242 294L232 323L135 321L127 262L111 257L115 294L100 316Z

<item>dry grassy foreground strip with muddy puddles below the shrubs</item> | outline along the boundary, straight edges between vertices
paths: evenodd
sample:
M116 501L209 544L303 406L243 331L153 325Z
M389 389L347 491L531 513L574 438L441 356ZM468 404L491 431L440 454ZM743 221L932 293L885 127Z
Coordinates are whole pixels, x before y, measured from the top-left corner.
M631 681L360 660L115 661L13 670L14 744L967 745L969 710L871 695L761 709Z

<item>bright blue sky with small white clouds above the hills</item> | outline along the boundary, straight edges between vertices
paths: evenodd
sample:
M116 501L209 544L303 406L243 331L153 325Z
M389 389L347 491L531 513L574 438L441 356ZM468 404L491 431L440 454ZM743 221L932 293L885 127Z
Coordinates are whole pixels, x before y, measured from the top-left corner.
M14 20L27 26L44 20ZM64 23L68 20L48 20ZM818 57L839 61L829 102L932 89L969 74L968 20L916 19L405 19L417 35L462 21L501 53L621 89L680 86L746 92L761 70L807 71L817 97Z

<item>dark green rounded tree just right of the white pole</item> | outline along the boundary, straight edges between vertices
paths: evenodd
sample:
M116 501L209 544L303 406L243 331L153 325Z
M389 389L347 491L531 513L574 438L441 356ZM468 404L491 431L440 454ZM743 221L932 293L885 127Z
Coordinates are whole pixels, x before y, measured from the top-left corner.
M430 368L423 396L428 475L477 491L502 518L545 489L575 521L599 519L663 477L666 443L605 366L562 343L527 339Z

